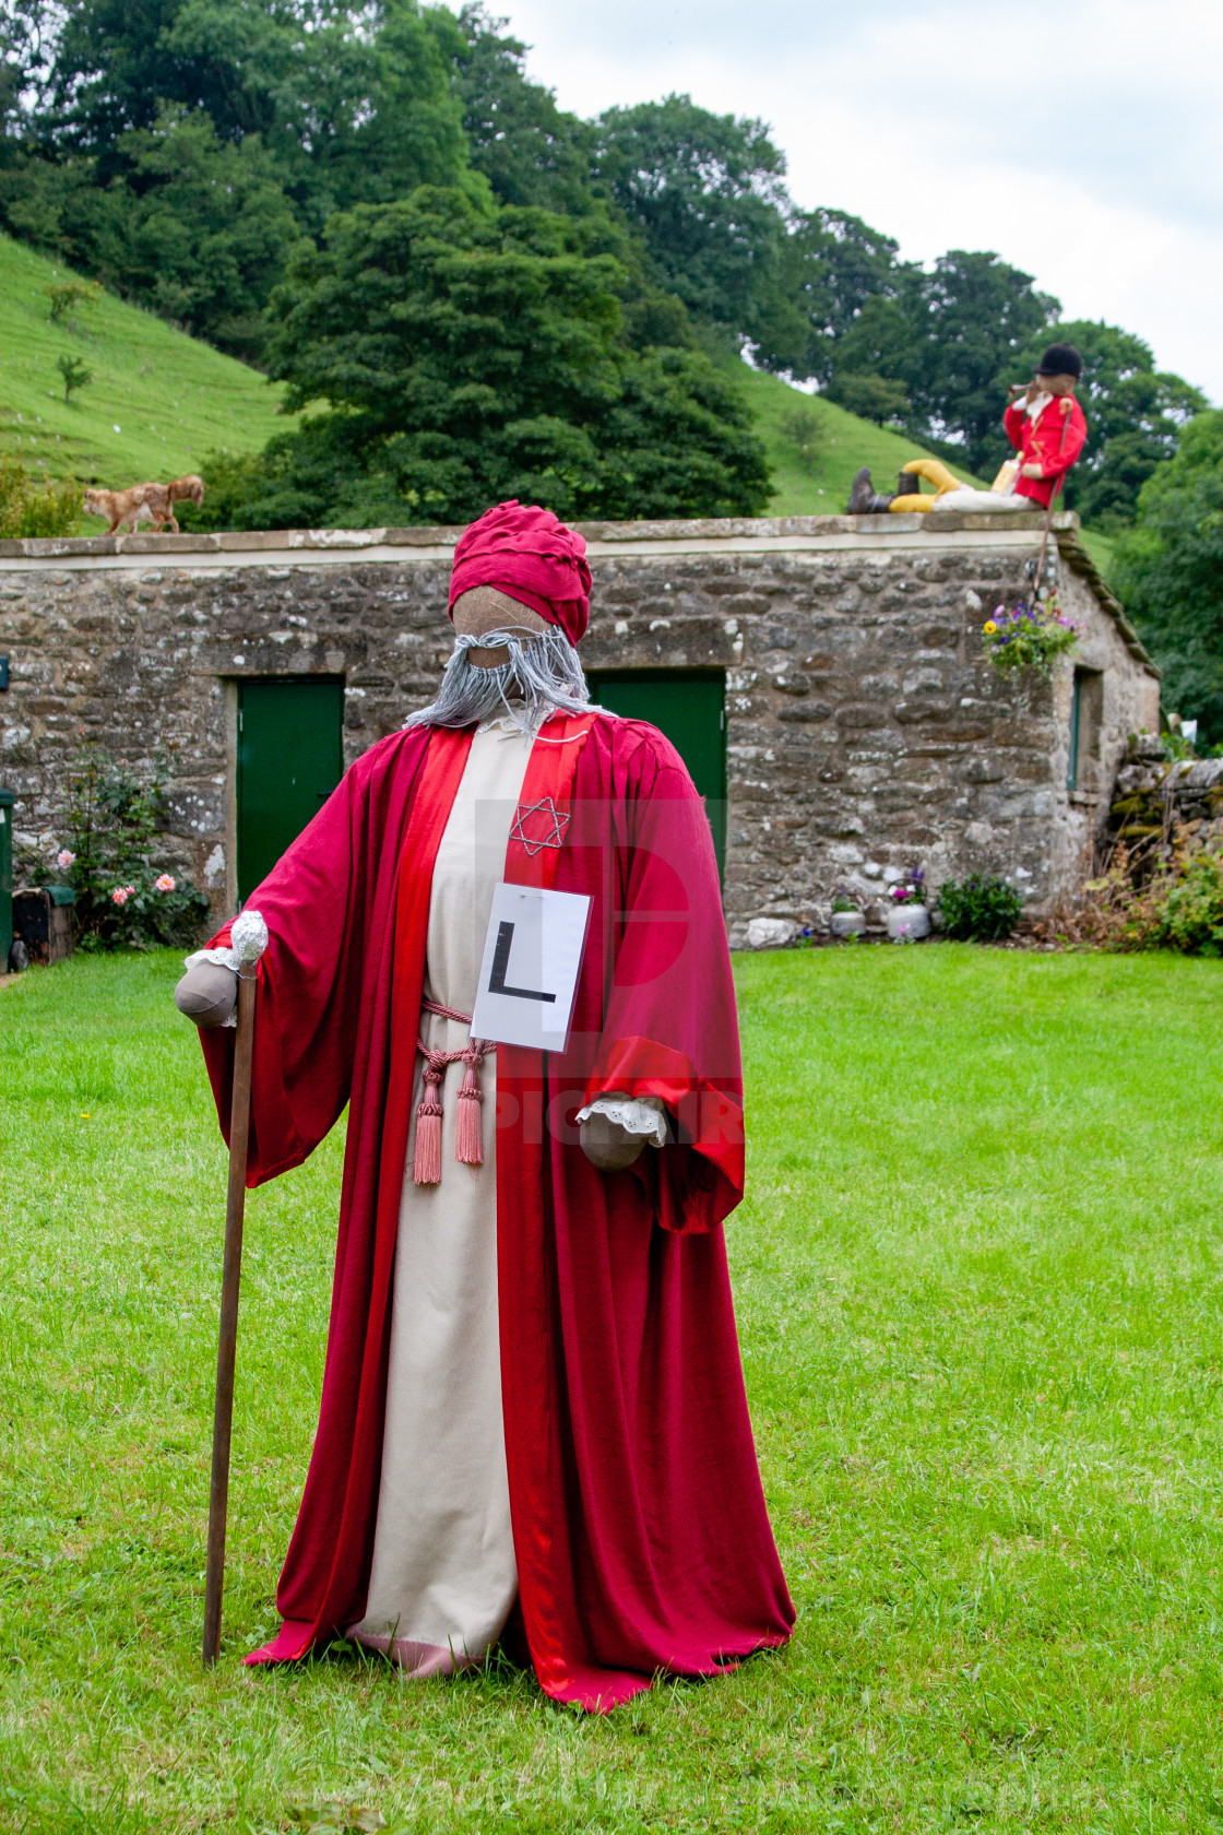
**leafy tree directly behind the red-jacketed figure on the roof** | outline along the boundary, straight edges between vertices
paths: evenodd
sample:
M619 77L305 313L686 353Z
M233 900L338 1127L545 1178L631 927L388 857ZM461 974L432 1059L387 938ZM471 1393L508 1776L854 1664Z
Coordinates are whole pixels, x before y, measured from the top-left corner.
M1140 338L1104 321L1047 327L1021 365L1032 369L1051 339L1073 343L1084 360L1074 393L1087 415L1087 444L1065 483L1065 506L1093 528L1126 528L1142 484L1161 461L1172 459L1181 428L1206 407L1206 398L1181 376L1157 371Z

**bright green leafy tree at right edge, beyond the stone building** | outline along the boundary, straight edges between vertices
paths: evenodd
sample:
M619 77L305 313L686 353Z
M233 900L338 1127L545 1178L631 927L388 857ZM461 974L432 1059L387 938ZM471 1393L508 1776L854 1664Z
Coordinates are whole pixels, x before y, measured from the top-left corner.
M1139 492L1117 591L1164 672L1164 701L1223 743L1223 413L1197 415Z

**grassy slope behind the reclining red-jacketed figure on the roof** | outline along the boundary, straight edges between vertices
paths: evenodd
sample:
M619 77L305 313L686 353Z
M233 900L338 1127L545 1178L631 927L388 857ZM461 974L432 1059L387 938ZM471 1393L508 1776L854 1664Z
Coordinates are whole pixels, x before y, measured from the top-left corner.
M777 376L735 363L735 380L746 391L774 472L770 516L834 516L849 501L858 466L869 464L878 490L897 488L897 472L924 451L904 433L858 420L834 402L803 395ZM801 431L807 420L814 440ZM801 444L810 451L803 453ZM972 472L952 466L966 484L981 484Z

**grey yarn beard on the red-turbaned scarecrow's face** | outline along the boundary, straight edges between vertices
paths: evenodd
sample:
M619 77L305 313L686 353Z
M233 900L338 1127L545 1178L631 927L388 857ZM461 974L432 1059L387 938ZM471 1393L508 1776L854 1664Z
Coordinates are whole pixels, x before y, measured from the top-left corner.
M468 657L469 650L501 650L502 644L510 661L497 670L482 670ZM471 727L501 714L530 736L550 714L585 714L589 708L590 690L578 651L557 626L532 637L501 629L455 637L436 701L403 725Z

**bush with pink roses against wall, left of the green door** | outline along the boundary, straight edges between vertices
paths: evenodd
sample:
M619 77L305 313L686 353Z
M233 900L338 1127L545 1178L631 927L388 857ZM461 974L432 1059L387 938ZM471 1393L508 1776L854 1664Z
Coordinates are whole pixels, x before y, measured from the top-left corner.
M68 846L57 870L72 884L81 949L194 943L207 899L154 864L165 811L165 760L138 778L99 747L84 747L68 780Z

